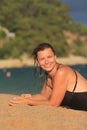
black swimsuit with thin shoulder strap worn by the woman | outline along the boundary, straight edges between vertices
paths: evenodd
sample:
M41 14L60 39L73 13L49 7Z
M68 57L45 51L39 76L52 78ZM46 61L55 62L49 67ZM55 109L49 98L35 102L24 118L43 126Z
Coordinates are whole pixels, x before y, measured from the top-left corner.
M74 71L75 72L75 71ZM77 86L78 76L76 75L76 83L72 92L66 91L61 106L76 110L87 111L87 92L74 92Z

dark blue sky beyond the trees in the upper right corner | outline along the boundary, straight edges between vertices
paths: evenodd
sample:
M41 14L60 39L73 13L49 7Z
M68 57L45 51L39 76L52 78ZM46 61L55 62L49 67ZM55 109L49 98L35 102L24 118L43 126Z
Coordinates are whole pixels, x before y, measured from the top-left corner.
M70 7L70 16L75 22L87 26L87 0L61 0Z

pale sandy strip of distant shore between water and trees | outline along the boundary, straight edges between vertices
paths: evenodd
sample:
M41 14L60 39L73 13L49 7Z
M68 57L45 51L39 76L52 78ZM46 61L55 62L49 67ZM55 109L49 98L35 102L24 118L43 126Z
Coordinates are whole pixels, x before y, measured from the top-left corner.
M87 58L81 56L69 56L69 57L57 58L57 62L66 65L87 64ZM0 69L29 67L33 65L34 61L31 58L0 60Z

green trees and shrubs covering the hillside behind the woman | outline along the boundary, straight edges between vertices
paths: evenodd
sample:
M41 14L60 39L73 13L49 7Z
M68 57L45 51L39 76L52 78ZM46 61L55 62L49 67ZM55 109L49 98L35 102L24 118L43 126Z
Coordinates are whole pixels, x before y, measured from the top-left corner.
M41 42L51 43L58 56L70 54L70 46L63 30L79 35L87 35L87 29L75 24L68 16L69 8L60 0L3 0L0 2L0 24L15 38L3 40L0 58L20 57L23 53L31 54L33 48ZM2 32L0 31L0 34ZM0 39L4 39L2 34ZM82 42L82 41L81 41ZM1 43L0 43L1 44ZM87 56L81 49L87 46L75 42L74 54ZM79 51L79 48L81 51Z

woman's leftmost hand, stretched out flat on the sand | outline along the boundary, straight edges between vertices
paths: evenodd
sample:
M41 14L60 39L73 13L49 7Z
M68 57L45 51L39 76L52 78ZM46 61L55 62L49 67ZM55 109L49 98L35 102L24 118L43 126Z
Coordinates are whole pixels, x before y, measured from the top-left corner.
M14 97L14 98L9 102L9 105L10 105L10 106L14 106L14 105L17 105L17 104L29 104L29 99L24 98L24 97L22 97L22 96L19 96L19 97Z

